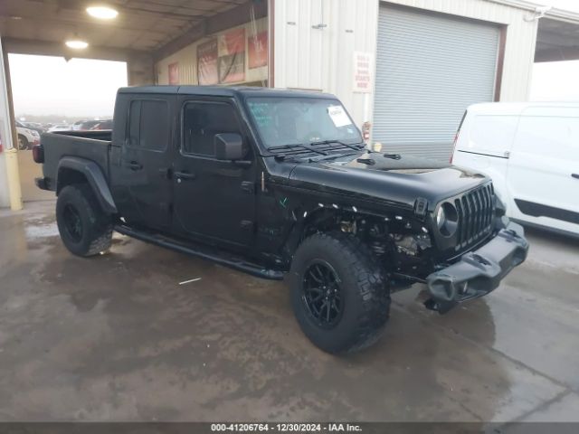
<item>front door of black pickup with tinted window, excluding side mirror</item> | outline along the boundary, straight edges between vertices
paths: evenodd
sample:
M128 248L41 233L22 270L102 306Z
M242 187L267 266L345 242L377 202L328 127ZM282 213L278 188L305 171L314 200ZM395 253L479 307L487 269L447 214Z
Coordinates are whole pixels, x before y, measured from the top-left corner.
M233 99L181 97L179 152L174 162L175 231L229 247L252 244L255 154ZM214 136L241 134L246 164L218 160Z

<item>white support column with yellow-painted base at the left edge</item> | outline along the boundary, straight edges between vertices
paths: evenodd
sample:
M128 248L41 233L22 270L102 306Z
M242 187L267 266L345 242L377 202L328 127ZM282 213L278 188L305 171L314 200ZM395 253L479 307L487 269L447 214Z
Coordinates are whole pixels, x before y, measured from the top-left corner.
M14 106L8 53L2 46L0 38L0 139L3 152L0 153L0 207L10 206L13 211L22 210L22 192L18 173L18 143L14 126Z

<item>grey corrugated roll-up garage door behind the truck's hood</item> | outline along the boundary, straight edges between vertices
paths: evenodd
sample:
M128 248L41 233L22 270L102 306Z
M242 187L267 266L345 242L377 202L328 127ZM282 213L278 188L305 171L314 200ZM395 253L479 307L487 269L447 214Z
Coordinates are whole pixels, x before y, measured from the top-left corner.
M494 99L498 42L491 24L381 4L374 141L448 159L464 110Z

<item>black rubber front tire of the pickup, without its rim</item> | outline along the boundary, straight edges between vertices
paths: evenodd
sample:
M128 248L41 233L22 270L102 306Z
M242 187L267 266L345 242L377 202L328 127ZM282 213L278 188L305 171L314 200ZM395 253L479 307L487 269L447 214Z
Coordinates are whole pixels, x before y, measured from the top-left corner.
M306 270L320 259L336 271L344 303L339 322L329 329L311 315L304 293ZM353 353L375 344L382 335L390 313L390 291L375 258L353 235L316 233L303 241L292 260L289 285L302 331L323 351Z

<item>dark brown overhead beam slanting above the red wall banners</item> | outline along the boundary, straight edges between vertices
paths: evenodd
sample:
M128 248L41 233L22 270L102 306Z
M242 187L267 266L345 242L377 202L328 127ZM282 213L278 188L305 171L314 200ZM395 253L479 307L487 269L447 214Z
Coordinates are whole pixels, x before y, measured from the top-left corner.
M265 0L250 0L247 3L236 6L233 9L215 14L205 18L201 23L194 25L181 36L177 37L171 42L167 42L163 47L159 48L153 54L155 61L160 61L184 49L187 45L191 45L203 39L205 36L213 33L218 33L223 30L230 29L237 25L245 24L250 21L252 5L255 7L255 18L263 18L268 16L268 5Z

